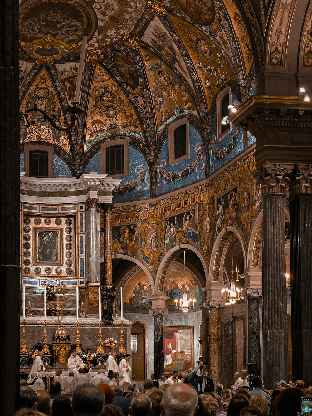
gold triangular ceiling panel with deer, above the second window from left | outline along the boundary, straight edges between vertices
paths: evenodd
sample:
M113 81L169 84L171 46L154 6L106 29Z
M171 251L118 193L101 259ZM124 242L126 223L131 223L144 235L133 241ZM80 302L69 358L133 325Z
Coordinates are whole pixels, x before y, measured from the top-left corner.
M94 72L87 114L84 152L113 134L143 140L134 108L119 85L99 65Z

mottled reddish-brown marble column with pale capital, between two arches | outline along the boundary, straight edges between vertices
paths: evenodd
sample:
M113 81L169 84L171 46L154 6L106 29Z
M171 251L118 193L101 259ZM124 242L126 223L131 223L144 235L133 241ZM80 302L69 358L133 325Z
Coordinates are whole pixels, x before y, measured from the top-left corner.
M223 300L203 302L209 308L209 377L213 382L221 382L220 319L219 309L225 306Z

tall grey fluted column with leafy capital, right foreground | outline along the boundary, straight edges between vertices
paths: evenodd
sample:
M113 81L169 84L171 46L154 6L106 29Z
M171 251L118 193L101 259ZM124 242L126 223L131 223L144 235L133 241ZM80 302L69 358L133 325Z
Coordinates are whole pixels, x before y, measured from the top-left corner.
M285 186L292 168L265 164L254 176L263 194L263 381L274 389L276 378L288 379L287 294L285 262Z

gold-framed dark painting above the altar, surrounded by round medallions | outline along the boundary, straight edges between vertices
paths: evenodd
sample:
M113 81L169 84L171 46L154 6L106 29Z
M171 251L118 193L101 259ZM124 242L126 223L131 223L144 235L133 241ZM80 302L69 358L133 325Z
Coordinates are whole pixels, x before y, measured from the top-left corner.
M34 265L62 265L62 228L34 229Z

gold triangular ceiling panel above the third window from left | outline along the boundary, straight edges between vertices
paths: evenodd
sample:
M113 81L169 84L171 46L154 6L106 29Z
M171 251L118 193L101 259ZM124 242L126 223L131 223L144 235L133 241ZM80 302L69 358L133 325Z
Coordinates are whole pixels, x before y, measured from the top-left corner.
M140 49L153 96L158 134L167 124L181 115L198 116L196 105L186 84L155 55Z

